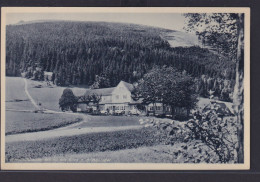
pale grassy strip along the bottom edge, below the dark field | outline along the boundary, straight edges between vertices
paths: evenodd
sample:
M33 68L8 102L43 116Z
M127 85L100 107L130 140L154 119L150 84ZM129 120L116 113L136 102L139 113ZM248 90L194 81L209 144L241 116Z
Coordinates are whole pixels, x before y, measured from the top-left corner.
M194 150L187 151L189 156L184 159L180 151L183 149L184 143L176 143L174 145L153 145L138 148L123 149L117 151L91 152L84 154L62 154L51 157L43 157L37 159L19 160L17 162L42 162L42 163L206 163L207 160L196 160ZM203 148L207 151L210 149L205 145ZM195 156L194 156L195 155ZM206 155L203 152L203 155ZM207 163L216 163L217 158L214 153Z

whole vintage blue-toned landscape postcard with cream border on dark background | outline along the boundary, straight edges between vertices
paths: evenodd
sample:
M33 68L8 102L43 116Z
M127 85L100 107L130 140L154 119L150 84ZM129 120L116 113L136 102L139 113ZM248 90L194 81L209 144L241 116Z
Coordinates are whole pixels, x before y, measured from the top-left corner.
M250 8L1 12L1 169L250 169Z

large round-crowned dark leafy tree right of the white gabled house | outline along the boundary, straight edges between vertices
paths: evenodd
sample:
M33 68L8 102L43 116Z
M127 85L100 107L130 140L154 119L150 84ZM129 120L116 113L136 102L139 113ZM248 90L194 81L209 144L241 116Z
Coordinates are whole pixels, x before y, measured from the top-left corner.
M133 98L142 98L143 104L169 105L173 116L175 108L189 111L197 101L193 79L185 72L167 66L154 67L145 74L135 87Z

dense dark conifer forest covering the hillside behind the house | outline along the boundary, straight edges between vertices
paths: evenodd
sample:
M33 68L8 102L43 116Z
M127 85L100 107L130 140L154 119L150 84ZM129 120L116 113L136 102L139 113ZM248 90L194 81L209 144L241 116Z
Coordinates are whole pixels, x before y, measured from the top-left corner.
M139 80L155 65L169 65L196 78L202 96L214 90L221 97L224 88L225 95L230 95L235 64L208 49L170 47L161 36L170 31L105 22L8 25L6 75L48 71L54 73L57 85L92 85L96 75L102 75L109 80L109 86L115 86L120 80Z

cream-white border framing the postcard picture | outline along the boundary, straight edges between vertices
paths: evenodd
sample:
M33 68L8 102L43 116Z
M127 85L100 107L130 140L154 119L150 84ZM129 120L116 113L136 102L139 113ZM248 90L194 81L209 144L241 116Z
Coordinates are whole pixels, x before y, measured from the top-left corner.
M244 164L6 163L5 32L7 13L245 13ZM250 8L202 7L3 7L1 8L1 169L2 170L248 170L250 169Z

